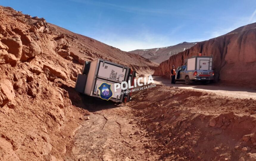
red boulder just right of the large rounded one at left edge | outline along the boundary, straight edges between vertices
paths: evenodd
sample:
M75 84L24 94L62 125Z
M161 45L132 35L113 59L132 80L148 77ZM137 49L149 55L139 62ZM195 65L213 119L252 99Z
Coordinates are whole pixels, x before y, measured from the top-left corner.
M37 43L30 43L27 46L23 45L21 61L26 61L29 58L33 58L36 55L41 54L41 47Z

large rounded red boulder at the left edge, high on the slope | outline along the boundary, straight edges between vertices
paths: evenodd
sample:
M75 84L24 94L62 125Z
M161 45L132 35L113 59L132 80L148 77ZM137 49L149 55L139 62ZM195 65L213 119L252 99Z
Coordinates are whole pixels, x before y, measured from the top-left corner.
M19 60L22 54L22 42L19 36L13 36L11 38L1 39L1 42L4 43L9 49L8 53L15 55L15 57Z

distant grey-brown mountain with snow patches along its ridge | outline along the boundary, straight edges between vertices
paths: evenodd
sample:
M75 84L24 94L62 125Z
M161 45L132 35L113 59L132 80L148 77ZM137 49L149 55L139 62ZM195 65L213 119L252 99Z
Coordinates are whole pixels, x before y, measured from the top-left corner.
M169 47L133 50L133 51L130 51L130 53L138 54L154 62L161 63L165 60L168 60L170 56L175 55L179 52L182 52L186 49L189 49L195 44L196 42L182 42L177 45L173 45Z

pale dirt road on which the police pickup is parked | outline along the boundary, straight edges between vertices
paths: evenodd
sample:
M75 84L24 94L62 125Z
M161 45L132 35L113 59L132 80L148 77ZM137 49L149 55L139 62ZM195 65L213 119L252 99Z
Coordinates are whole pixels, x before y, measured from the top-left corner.
M192 85L185 85L185 82L176 82L175 85L171 84L171 80L165 79L160 76L153 77L154 82L156 84L163 84L171 87L179 87L182 89L188 90L199 90L207 93L215 93L224 97L232 97L232 98L241 98L241 99L255 99L256 100L256 90L250 88L239 88L239 87L229 87L223 85L201 85L200 83L195 83Z

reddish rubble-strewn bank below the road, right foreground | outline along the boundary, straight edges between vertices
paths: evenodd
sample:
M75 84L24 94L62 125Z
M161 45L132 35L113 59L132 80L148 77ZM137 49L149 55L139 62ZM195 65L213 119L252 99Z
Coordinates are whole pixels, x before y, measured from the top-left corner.
M256 160L256 101L157 85L130 102L162 160Z

